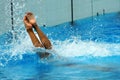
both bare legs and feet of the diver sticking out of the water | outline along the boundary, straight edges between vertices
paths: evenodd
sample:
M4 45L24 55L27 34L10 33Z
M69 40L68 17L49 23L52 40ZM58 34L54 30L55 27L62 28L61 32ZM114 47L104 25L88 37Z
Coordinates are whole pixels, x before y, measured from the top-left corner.
M40 30L36 23L36 19L31 12L26 13L23 22L25 24L26 30L31 38L31 41L35 47L44 47L45 49L51 49L52 45L46 35ZM36 30L39 39L36 37L33 28Z

